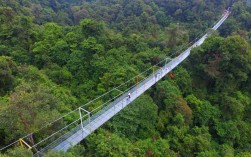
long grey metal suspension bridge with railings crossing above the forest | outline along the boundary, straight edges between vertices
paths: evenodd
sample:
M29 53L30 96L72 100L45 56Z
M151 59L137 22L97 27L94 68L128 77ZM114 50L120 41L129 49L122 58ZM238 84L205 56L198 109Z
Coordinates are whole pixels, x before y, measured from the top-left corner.
M230 14L229 9L224 11L224 14L220 18L220 20L212 27L212 30L217 30L221 24L228 18ZM114 88L113 90L101 95L100 97L92 100L91 102L69 112L68 114L60 117L59 119L51 122L49 125L44 126L44 130L48 129L48 127L53 126L55 123L59 123L65 117L69 115L74 115L78 118L73 120L73 122L63 126L61 129L58 129L56 132L51 135L40 139L39 142L35 144L30 144L27 141L30 141L30 137L34 136L35 133L26 135L23 138L11 143L10 145L1 148L0 150L4 150L16 143L20 143L21 145L26 145L29 149L34 150L35 155L43 156L46 152L50 150L55 151L67 151L70 147L75 146L80 141L85 139L88 135L90 135L93 131L102 126L105 122L111 119L114 115L120 112L123 108L133 102L136 98L138 98L141 94L143 94L146 90L156 84L160 79L166 76L172 69L178 66L182 61L184 61L189 55L191 49L200 46L205 39L210 36L210 32L206 32L203 34L199 40L195 41L192 45L190 45L185 51L180 53L177 57L170 59L167 57L162 60L158 64L155 65L157 70L152 70L153 67L147 69L141 74L135 76L131 80L137 80L136 84L132 85L130 88L125 90L120 90L120 87L124 84ZM149 71L151 71L149 73ZM139 78L143 78L139 81ZM92 110L88 110L86 106L93 104L95 101L98 101L102 97L106 97L111 92L119 92L115 97L107 100L105 103L98 105L96 108ZM130 97L128 94L130 93ZM74 117L73 116L73 117ZM42 130L41 129L41 130ZM36 140L36 137L35 137Z

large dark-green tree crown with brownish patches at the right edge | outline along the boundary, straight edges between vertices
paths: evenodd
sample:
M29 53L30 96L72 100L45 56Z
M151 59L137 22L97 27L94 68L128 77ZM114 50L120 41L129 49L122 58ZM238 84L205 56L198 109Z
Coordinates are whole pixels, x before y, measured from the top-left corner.
M212 92L238 90L247 81L251 69L248 43L240 36L224 40L212 37L207 41L191 56L190 65L196 65L201 79L194 83L206 84L209 89L214 89Z

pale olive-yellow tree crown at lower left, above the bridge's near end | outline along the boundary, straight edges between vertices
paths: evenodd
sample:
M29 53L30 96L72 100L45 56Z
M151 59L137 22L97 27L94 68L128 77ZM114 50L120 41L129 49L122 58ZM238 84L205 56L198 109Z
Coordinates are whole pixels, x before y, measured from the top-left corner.
M59 116L58 102L48 88L22 83L10 95L9 108L1 118L1 126L9 138L34 132ZM13 125L9 125L10 122Z

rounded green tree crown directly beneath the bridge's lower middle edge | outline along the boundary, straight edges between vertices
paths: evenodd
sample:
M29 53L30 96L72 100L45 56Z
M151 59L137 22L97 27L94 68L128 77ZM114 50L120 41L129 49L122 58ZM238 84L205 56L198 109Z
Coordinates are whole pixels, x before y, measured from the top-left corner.
M153 100L142 95L112 120L112 128L118 135L131 140L151 137L157 121L157 106Z

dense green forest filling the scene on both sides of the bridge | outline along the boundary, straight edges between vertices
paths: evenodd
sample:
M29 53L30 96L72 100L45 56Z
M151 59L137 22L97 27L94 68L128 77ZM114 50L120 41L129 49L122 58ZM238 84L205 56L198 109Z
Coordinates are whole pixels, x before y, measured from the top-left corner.
M246 0L1 0L0 148L185 47L228 6L230 17L174 79L166 76L68 152L45 157L250 157ZM15 145L0 157L32 151Z

